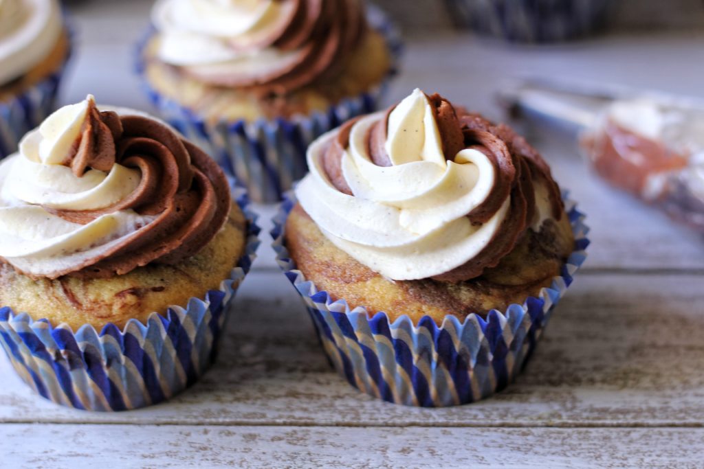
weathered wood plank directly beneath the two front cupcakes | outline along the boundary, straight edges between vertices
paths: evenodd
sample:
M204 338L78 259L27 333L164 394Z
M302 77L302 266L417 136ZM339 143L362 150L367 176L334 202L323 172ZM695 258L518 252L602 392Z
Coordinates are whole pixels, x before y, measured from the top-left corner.
M515 385L452 409L360 394L330 370L280 274L246 280L218 364L168 404L85 413L34 396L0 360L0 422L224 425L704 425L701 277L584 274ZM315 409L315 411L311 411Z

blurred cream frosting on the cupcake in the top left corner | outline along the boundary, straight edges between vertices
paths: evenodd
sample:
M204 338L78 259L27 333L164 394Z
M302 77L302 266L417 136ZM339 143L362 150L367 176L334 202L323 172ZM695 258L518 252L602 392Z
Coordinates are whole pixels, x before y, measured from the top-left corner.
M49 56L62 28L56 0L0 0L0 85Z

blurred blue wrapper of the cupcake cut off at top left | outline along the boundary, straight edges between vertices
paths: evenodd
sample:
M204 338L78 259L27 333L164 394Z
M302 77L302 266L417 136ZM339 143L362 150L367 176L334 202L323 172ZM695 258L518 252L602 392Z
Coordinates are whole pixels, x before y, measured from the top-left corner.
M65 19L69 41L73 43L75 34L70 20ZM35 129L56 108L56 95L65 72L66 63L72 56L70 46L64 63L58 70L22 91L17 96L6 100L0 99L0 159L5 158L18 148L25 134Z

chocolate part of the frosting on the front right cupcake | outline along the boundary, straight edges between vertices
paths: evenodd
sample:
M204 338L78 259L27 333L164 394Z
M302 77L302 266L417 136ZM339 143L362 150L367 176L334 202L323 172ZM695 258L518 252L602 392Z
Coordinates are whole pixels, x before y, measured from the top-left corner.
M479 114L463 108L454 108L445 98L434 94L427 96L439 130L442 150L446 160L453 160L461 150L482 152L494 167L494 184L489 195L474 207L466 217L475 226L486 223L510 200L508 214L479 255L455 269L432 276L439 281L457 283L482 275L484 269L496 266L508 255L517 241L533 224L536 217L536 185L548 192L551 217L559 220L564 210L560 188L539 153L513 129L504 124L494 124ZM370 160L379 167L391 166L386 153L389 115L395 106L386 111L367 131L366 142ZM322 155L322 167L329 181L341 193L352 195L344 177L341 160L350 145L350 133L358 120L344 124L337 136L329 142Z

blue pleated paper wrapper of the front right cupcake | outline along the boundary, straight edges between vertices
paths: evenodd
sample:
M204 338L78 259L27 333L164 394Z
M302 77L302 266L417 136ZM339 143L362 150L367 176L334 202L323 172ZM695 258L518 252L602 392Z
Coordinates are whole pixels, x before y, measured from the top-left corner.
M384 312L370 318L364 307L350 309L307 281L289 258L284 226L294 195L287 194L275 217L272 247L277 262L303 298L322 347L348 382L384 401L409 406L453 406L484 399L515 378L532 354L555 305L586 259L584 215L566 198L574 232L574 252L550 288L505 311L462 321L446 316L441 326L425 316L417 324Z

